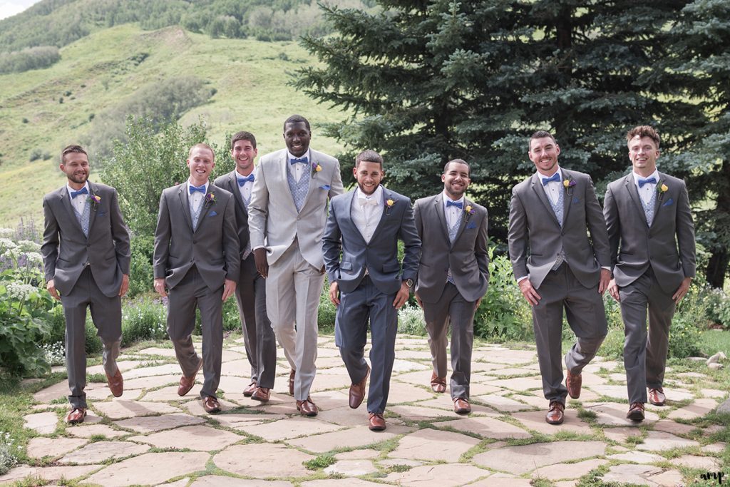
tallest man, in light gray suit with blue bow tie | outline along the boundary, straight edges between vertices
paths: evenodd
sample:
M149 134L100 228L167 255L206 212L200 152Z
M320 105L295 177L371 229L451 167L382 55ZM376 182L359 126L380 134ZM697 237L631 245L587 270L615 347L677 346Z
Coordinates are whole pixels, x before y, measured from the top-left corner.
M266 312L291 366L289 393L302 415L315 416L321 240L327 199L342 193L342 177L336 158L310 149L306 118L289 117L283 137L287 148L258 163L248 224L256 269L266 277Z

